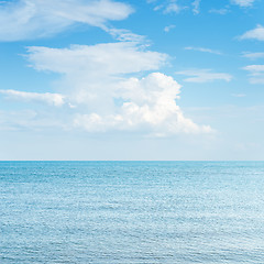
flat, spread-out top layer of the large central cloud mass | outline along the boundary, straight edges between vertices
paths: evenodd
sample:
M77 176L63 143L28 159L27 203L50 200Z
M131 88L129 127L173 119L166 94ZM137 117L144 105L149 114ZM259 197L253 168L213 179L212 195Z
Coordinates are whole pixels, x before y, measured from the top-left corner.
M98 77L155 70L167 55L144 51L132 42L97 45L72 45L69 48L29 47L28 58L37 70Z

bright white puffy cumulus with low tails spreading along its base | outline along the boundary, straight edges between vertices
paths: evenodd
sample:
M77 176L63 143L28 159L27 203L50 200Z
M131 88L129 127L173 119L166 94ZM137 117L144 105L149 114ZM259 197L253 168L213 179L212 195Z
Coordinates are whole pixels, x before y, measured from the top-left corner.
M210 133L208 125L199 127L184 117L176 105L180 86L169 76L153 73L145 78L130 78L119 84L123 103L116 114L78 114L75 125L87 131L145 130L153 135L175 133Z

